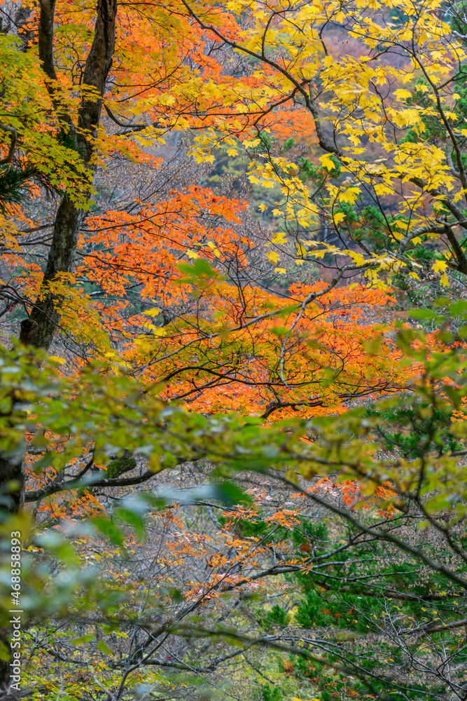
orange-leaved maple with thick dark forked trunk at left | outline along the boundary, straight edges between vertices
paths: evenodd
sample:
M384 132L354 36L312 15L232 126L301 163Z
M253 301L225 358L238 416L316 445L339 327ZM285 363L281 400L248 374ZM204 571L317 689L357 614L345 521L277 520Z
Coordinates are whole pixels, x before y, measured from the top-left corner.
M21 250L20 237L10 233L5 251L10 279L4 295L7 314L18 312L12 300L29 313L22 322L20 339L48 348L60 319L69 351L73 355L78 351L83 360L92 355L123 356L146 381L170 382L165 398L185 399L195 409L216 409L219 400L225 404L222 388L227 388L229 408L258 411L265 418L277 411L286 415L320 407L340 410L343 402L400 386L405 379L386 362L390 344L381 358L365 353L363 341L378 329L341 325L336 317L344 313L342 307L353 308L353 322L359 304L385 304L387 294L361 287L348 294L333 292L341 271L328 285L289 287L284 306L284 292L264 290L274 284L274 278L267 277L277 254L268 253L264 264L258 232L243 230L239 212L245 205L241 200L188 183L175 192L140 192L129 205L117 209L96 193L102 211L85 215L91 206L98 163L125 157L147 165L153 177L158 161L141 147L157 142L162 132L171 129L196 130L217 124L219 97L214 78L229 107L222 119L234 123L243 105L244 128L251 118L258 123L258 114L251 116L246 109L243 94L234 100L232 86L253 93L263 88L255 86L249 74L232 79L229 53L220 62L211 60L209 43L200 46L204 29L193 22L183 4L174 13L163 4L140 9L125 7L119 19L114 6L98 4L96 15L86 9L80 15L82 23L75 25L76 14L69 4L44 4L39 15L33 13L28 19L28 27L36 26L38 32L41 62L41 69L27 83L28 95L37 85L43 101L42 116L36 118L41 128L34 130L34 139L41 141L47 135L55 160L60 157L63 161L63 147L67 157L71 158L69 153L75 160L78 157L76 169L81 177L73 179L66 170L56 169L52 182L62 187L62 198L57 211L50 212L54 223L32 222L24 231L35 235L38 228L53 226L51 238L38 240L33 235ZM225 27L232 27L233 19L228 15ZM134 36L131 50L123 33L128 23ZM117 32L114 46L116 27L122 31ZM148 32L151 63L143 53ZM177 45L174 32L180 37ZM162 54L169 41L170 51ZM34 46L29 50L33 52ZM70 50L77 57L74 62ZM195 61L193 69L182 60L186 52ZM31 63L28 51L24 53ZM141 81L143 70L151 74L151 81L141 93L129 95L127 83L120 85L119 76ZM104 97L106 85L112 89ZM109 119L101 125L103 100ZM13 78L5 102L8 114L13 114ZM116 106L120 110L117 117ZM142 121L134 121L137 113L144 115ZM26 130L28 115L15 116L12 123L17 135L14 152L50 170L48 163L44 165L43 151L39 157L34 153L36 141L31 143L30 126ZM109 125L123 131L114 134ZM11 147L13 141L8 154ZM34 200L22 210L18 205L12 210L18 222L28 221L28 206L34 207ZM230 223L236 228L231 229ZM81 263L75 267L80 228ZM207 263L202 262L201 254ZM183 257L194 260L193 266L180 263ZM45 263L43 271L37 261ZM116 301L112 299L115 294ZM314 304L317 299L323 299L321 306ZM284 316L283 327L277 325L278 313ZM2 470L6 482L14 478L22 484L20 463L5 461ZM22 498L22 490L15 493L13 508L18 508Z

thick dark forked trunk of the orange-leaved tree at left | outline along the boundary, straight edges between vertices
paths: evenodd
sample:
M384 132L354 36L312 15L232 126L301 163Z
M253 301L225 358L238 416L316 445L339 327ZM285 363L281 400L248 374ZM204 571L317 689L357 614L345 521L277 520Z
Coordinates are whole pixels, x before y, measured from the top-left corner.
M111 69L116 33L116 0L97 0L97 18L94 39L85 64L83 85L93 88L86 93L78 110L78 127L74 128L71 116L65 113L57 86L57 74L53 59L53 32L55 0L40 0L39 58L46 74L47 88L57 115L64 124L64 133L71 136L74 148L81 154L83 164L89 168L93 154L92 138L97 135L101 118L102 98L106 79ZM91 169L92 170L92 169ZM53 240L43 278L42 294L36 300L29 319L23 320L20 341L36 348L49 348L60 324L60 297L49 290L60 273L71 273L74 268L78 234L83 210L65 194L57 210ZM43 292L46 294L43 294ZM0 509L17 513L25 501L25 475L23 461L12 460L0 453ZM0 641L11 650L8 628L0 627ZM0 660L0 699L14 698L10 691L11 667Z

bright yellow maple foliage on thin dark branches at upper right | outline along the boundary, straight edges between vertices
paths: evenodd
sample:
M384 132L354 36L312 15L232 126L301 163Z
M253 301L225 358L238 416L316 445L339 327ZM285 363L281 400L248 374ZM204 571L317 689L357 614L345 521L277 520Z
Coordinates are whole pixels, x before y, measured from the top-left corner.
M442 286L449 271L454 279L465 274L458 240L465 135L457 92L465 80L464 36L455 20L449 24L460 6L443 15L434 6L402 3L394 14L379 4L368 16L358 4L279 8L264 2L253 11L255 28L239 25L234 36L217 27L215 6L209 17L184 5L208 34L251 57L268 96L305 111L316 128L326 177L303 158L274 153L272 142L264 151L259 130L256 139L244 138L253 182L282 188L274 213L285 217L284 245L292 239L297 248L283 249L278 238L277 259L282 254L300 264L327 252L330 266L347 255L373 280L378 268L396 276L406 271L414 280L432 270L442 274ZM229 8L240 13L246 6ZM356 56L340 55L344 37L356 42ZM410 90L399 87L407 83ZM291 216L298 207L300 219ZM324 245L314 251L323 226Z

